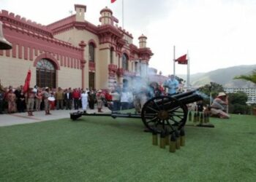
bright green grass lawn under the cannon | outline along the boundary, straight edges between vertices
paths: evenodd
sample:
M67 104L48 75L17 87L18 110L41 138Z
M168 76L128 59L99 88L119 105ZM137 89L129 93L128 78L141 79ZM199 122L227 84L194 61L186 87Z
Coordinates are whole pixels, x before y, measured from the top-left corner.
M0 181L256 181L256 117L186 127L176 153L140 119L83 116L0 127Z

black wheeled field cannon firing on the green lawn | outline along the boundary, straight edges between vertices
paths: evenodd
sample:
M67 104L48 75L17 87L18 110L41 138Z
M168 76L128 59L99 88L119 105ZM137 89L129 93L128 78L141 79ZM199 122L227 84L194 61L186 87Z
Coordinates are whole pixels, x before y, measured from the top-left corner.
M83 112L70 113L70 119L76 120L80 116L112 116L142 119L150 132L174 132L181 130L187 122L187 104L203 100L203 97L192 90L172 96L159 96L149 99L143 106L141 114L112 111L110 114L87 114Z

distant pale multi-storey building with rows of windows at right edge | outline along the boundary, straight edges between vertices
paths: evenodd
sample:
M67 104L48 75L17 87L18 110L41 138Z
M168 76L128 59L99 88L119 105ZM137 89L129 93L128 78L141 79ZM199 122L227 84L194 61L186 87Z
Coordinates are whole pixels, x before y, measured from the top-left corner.
M227 93L244 92L248 96L247 104L256 103L256 88L225 88Z

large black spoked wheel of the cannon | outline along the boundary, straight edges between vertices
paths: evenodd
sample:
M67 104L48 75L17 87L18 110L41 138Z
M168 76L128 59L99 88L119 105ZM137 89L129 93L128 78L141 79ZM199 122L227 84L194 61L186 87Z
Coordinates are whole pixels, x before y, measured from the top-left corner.
M141 111L141 119L151 132L181 130L187 122L187 106L176 98L159 96L148 100Z

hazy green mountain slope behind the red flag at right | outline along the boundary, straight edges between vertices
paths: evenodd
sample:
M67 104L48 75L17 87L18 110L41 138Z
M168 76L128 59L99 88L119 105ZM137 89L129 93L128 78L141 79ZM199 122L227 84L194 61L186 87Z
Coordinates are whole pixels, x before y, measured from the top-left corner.
M246 82L241 79L233 79L241 74L252 74L256 69L256 65L250 66L233 66L229 68L221 68L207 73L198 73L190 75L190 84L192 87L200 87L210 82L222 84L223 87L256 87L252 82ZM178 75L182 79L187 79L187 75Z

